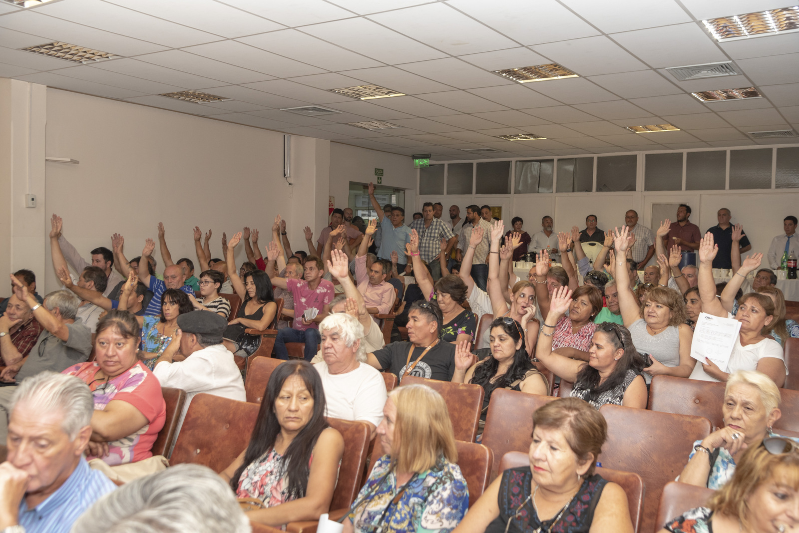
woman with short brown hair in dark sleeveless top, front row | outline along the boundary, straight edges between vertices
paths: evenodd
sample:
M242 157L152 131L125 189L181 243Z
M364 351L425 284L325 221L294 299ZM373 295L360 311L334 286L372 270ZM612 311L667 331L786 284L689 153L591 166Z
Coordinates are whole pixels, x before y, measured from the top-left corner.
M455 533L632 533L624 489L594 472L606 436L605 418L582 400L562 398L539 408L530 465L502 472Z

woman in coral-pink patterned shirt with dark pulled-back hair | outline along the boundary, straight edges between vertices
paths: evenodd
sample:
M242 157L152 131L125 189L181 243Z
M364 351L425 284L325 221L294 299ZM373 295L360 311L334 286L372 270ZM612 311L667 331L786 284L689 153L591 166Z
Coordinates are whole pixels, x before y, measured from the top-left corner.
M161 384L137 357L141 327L136 318L110 310L97 322L94 361L63 372L85 381L92 391L88 459L101 459L109 466L153 456L150 450L166 420Z

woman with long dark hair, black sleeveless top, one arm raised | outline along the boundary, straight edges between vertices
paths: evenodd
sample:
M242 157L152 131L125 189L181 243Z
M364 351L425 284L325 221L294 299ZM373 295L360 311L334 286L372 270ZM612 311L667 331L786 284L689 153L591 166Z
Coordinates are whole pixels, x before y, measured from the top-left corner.
M244 282L241 282L236 270L236 260L233 258L240 240L241 231L228 241L227 263L228 275L233 283L233 290L241 298L241 306L236 318L228 322L228 327L222 336L225 338L225 347L234 355L248 357L260 346L260 335L250 335L244 330L248 328L266 330L275 318L277 304L274 302L272 282L263 270L248 272Z

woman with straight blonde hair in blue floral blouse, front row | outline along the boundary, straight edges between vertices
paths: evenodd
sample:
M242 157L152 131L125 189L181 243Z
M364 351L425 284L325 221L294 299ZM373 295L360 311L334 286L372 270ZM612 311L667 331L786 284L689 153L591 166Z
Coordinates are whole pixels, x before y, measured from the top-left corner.
M466 514L469 489L455 464L443 398L427 385L403 385L388 393L383 413L376 444L384 456L344 519L344 533L451 531Z

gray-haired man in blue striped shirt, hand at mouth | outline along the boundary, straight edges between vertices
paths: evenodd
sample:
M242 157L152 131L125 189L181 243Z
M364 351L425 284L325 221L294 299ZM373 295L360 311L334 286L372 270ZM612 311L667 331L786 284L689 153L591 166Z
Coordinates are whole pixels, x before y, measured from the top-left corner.
M116 486L83 458L94 400L77 377L42 372L16 388L8 460L0 464L0 531L66 533Z

